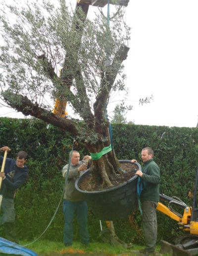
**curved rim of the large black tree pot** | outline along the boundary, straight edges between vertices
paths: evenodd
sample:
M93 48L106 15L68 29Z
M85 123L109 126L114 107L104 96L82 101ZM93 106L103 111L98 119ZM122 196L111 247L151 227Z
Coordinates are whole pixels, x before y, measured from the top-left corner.
M127 163L131 163L131 160L118 160L119 162L127 162ZM141 165L138 163L138 162L134 162L134 164L136 164L138 167L139 167L139 170L142 170L142 167ZM98 191L84 191L84 190L81 190L79 187L78 187L78 183L79 183L79 180L81 179L81 177L85 174L87 174L88 172L90 172L90 169L87 169L87 171L85 171L83 174L81 174L78 179L76 180L75 182L75 188L79 191L79 192L82 192L82 193L106 193L106 192L111 192L113 190L117 190L118 188L121 188L121 187L124 187L126 186L128 183L134 181L135 179L138 178L138 175L134 175L131 179L129 179L128 181L124 182L123 184L121 185L118 185L116 187L113 187L113 188L109 188L109 189L106 189L106 190L98 190Z

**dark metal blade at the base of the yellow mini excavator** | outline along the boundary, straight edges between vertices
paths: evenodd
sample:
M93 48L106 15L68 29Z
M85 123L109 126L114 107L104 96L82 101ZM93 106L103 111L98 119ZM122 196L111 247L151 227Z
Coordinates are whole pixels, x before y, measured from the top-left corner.
M191 248L197 244L197 241L192 240L191 245L188 246L189 243L185 245L172 245L164 240L160 241L161 244L161 254L168 254L172 256L191 256L191 255L198 255L198 248Z

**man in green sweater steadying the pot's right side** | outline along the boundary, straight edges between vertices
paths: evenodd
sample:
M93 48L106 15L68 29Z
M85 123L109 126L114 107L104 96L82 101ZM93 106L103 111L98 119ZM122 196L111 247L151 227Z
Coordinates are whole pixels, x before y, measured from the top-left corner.
M144 168L142 171L138 170L136 172L145 185L140 196L145 232L145 249L141 250L141 253L144 253L144 255L154 255L157 240L156 207L159 201L160 170L153 161L153 150L150 147L143 148L141 155ZM137 161L133 159L131 162Z

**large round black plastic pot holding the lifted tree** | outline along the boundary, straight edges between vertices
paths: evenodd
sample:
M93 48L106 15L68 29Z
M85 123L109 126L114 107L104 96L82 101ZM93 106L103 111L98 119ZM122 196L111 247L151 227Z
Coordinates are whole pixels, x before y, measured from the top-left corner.
M119 162L129 163L131 160L119 160ZM141 170L141 165L138 162L135 162L135 164ZM100 220L117 220L130 215L138 208L137 175L111 189L94 192L83 191L79 189L80 181L89 174L90 170L88 169L76 180L75 187L84 194L87 204Z

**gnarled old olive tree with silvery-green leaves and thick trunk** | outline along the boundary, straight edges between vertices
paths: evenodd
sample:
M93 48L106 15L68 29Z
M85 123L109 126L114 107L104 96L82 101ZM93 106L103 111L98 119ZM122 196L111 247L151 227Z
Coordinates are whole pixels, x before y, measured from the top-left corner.
M109 26L101 13L92 20L86 17L87 4L72 10L68 1L57 2L1 3L0 95L17 111L69 131L89 152L98 153L110 144L105 116L110 93L125 90L122 62L130 29L124 7L112 15ZM68 102L80 121L53 114L49 97ZM117 169L109 152L93 161L92 173L112 186L115 177L108 176Z

